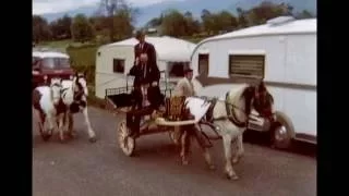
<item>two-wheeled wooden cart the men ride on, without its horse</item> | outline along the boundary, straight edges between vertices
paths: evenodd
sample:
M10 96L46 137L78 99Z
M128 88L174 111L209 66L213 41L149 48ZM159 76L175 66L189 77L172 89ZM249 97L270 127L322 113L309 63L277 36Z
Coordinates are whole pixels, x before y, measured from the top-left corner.
M127 81L129 79L127 78ZM176 128L197 123L197 118L195 118L195 115L193 115L192 112L190 112L190 110L185 107L185 103L188 103L186 98L172 96L173 88L168 87L168 79L166 78L166 75L165 77L161 77L160 82L163 82L163 84L165 82L165 86L160 85L160 97L163 100L160 101L161 103L158 109L151 114L142 114L142 110L144 108L133 108L133 87L129 86L128 82L125 87L106 89L107 108L115 114L118 113L119 118L122 118L117 128L118 142L120 148L127 156L133 155L135 148L135 139L141 135L168 132L171 140L176 143ZM139 126L139 134L131 135L131 128L129 124L132 122L128 122L129 119L127 118L127 115L133 115L137 113L140 113L142 119Z

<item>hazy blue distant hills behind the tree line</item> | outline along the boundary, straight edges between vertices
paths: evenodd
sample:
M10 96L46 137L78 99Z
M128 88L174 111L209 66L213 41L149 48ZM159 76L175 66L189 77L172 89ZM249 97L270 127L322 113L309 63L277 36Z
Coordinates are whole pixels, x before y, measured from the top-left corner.
M288 2L294 7L294 11L309 10L312 13L316 13L316 0L269 0L270 2ZM216 12L220 10L228 10L236 13L237 8L250 9L257 5L262 0L182 0L182 1L165 1L155 4L149 4L145 7L140 7L140 15L136 20L135 26L143 26L153 17L159 16L163 11L168 9L177 9L179 11L185 12L190 11L194 16L200 17L203 9L209 10L210 12ZM77 13L84 13L88 16L93 15L96 10L95 7L84 7L71 10L69 12L43 14L45 19L49 22L57 20L64 14L75 15Z

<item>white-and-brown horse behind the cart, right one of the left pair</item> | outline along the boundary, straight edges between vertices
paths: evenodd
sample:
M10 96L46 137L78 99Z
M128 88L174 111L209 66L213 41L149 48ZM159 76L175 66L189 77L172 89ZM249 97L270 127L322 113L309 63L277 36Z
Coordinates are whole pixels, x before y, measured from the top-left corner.
M75 133L73 132L73 114L82 112L87 125L87 134L89 142L96 142L96 134L91 126L87 112L87 82L85 74L76 73L73 79L62 81L62 101L67 107L65 113L65 124L68 124L68 133L71 137L74 137Z

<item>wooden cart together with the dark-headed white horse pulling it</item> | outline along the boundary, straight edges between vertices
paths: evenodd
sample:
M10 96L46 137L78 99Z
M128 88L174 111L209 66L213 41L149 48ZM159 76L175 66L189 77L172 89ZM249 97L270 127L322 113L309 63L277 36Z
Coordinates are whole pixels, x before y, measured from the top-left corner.
M167 79L165 77L165 84ZM275 117L273 111L273 96L267 91L263 82L257 85L244 84L242 87L231 89L225 97L203 98L203 97L176 97L172 89L160 88L161 106L153 113L142 114L143 108L133 108L132 87L128 84L122 88L106 89L107 108L115 112L125 114L118 126L118 140L120 148L127 156L132 156L135 149L135 139L141 135L168 132L171 139L177 142L176 136L181 137L182 163L186 161L190 139L194 136L204 151L204 158L210 169L212 163L208 148L212 146L208 136L202 131L202 125L207 125L217 137L222 138L224 151L226 156L226 173L230 179L238 179L233 171L232 163L239 161L243 155L242 134L249 127L249 122L253 117L263 117L262 126L275 128ZM147 96L147 95L143 95ZM139 113L143 121L140 122L139 134L132 134L133 122L128 115ZM120 117L119 117L120 118ZM183 127L183 128L182 128ZM178 130L180 132L178 132ZM184 137L182 137L184 135ZM184 139L182 139L184 138ZM213 138L213 137L210 137ZM189 143L189 145L185 145ZM236 150L231 149L231 145Z

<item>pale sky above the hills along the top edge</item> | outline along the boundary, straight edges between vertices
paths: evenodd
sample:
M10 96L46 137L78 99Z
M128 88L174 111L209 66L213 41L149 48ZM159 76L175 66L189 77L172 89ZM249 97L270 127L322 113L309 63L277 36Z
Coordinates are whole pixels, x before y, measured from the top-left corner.
M172 0L128 0L133 5L146 5ZM93 5L100 0L32 0L33 14L59 13L75 10L81 7Z

